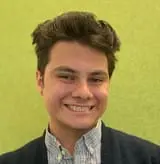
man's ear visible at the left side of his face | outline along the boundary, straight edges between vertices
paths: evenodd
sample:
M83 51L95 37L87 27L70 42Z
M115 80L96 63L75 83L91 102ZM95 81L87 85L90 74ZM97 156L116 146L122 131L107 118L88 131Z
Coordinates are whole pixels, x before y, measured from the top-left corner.
M43 77L41 75L41 72L38 70L36 71L36 85L40 95L43 96L43 89L44 89Z

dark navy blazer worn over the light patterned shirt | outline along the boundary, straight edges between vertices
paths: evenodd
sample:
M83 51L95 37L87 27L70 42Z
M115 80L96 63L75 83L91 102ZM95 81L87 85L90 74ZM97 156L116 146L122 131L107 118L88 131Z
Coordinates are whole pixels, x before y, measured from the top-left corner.
M43 136L0 156L0 164L48 164ZM160 164L160 146L102 124L101 164Z

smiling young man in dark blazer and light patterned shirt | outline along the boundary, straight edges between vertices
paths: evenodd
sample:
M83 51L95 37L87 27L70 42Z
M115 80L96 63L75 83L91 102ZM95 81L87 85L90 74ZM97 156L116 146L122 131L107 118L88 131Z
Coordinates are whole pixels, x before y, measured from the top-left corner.
M49 114L42 137L0 156L0 164L160 164L160 147L106 127L114 29L92 13L68 12L32 33L39 92Z

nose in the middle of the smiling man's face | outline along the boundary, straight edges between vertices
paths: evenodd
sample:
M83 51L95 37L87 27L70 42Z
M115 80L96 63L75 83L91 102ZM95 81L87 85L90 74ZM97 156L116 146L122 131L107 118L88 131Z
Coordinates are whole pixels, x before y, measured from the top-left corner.
M93 93L87 82L83 81L76 84L74 91L72 92L72 97L87 100L93 97Z

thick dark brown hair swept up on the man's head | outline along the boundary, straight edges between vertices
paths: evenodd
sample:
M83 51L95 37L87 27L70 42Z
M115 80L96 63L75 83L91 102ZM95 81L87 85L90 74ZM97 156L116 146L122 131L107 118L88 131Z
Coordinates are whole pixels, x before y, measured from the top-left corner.
M32 33L37 55L37 69L44 75L49 61L49 51L57 41L77 41L100 50L108 60L109 77L115 68L115 52L120 50L120 40L104 20L97 20L90 12L70 11L39 24Z

